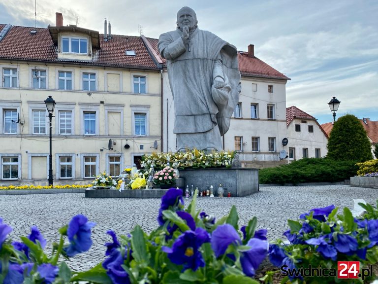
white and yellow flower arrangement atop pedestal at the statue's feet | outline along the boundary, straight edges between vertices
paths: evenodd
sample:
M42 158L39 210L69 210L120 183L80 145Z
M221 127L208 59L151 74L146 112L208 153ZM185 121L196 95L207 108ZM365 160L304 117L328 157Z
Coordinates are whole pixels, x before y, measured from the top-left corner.
M205 152L202 150L187 150L186 152L152 153L142 156L141 166L145 169L154 165L157 169L163 169L169 162L173 168L231 168L235 151Z

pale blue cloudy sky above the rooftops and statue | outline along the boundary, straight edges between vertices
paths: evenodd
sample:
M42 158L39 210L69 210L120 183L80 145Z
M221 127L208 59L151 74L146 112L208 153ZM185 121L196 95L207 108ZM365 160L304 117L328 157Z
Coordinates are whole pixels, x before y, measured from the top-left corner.
M0 0L0 23L35 25L35 0ZM286 106L297 106L319 123L332 120L327 103L378 120L378 1L376 0L36 0L36 25L63 23L103 33L158 37L176 26L176 12L190 6L198 26L247 51L291 78Z

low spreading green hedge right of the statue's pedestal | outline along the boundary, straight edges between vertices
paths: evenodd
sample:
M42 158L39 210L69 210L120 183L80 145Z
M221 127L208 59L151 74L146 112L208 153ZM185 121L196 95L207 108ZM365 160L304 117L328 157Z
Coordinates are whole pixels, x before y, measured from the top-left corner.
M259 171L260 183L337 182L354 177L356 161L335 161L329 158L304 158L291 164Z

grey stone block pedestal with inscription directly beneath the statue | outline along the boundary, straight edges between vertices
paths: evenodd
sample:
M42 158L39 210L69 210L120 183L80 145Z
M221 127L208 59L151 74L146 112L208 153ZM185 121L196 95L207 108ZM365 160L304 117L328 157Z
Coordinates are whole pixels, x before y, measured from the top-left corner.
M214 196L218 196L219 184L222 184L224 196L231 193L231 197L250 195L259 190L258 170L251 168L206 168L180 170L180 178L184 178L185 186L198 187L198 190L206 190L213 185Z

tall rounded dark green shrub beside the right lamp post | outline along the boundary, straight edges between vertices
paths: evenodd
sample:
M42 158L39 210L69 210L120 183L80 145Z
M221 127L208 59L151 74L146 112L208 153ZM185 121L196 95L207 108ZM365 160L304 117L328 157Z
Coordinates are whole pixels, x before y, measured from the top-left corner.
M327 157L365 162L373 159L371 144L361 122L352 114L340 117L328 139Z

